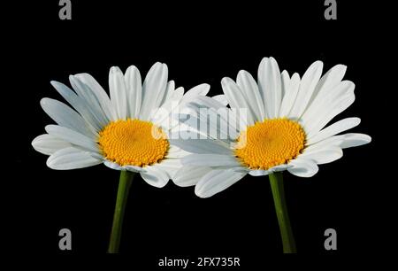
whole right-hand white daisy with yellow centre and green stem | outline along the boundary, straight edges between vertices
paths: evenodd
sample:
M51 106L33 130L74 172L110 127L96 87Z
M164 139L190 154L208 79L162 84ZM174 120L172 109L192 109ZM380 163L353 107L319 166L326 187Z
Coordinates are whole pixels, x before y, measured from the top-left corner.
M217 127L218 135L228 134L226 139L208 133L205 139L176 142L180 148L195 152L182 162L192 170L196 167L200 174L193 178L183 174L188 169L180 169L182 174L173 181L180 186L195 184L199 197L226 190L246 174L270 175L285 252L295 252L295 244L280 172L311 177L318 172L318 165L340 159L342 149L371 142L371 137L364 134L341 135L356 127L358 118L325 127L354 102L355 85L342 81L346 66L333 66L321 77L322 68L322 62L316 61L302 78L299 74L290 77L287 71L279 72L274 58L263 58L257 82L246 71L239 72L236 81L226 77L221 81L225 97L207 99L203 104L217 112L226 98L231 107L228 115L236 115L231 114L233 108L246 110L245 118L238 117L237 121L231 116L228 120L221 117L218 122L210 118L210 127ZM200 112L199 105L193 103L192 107Z

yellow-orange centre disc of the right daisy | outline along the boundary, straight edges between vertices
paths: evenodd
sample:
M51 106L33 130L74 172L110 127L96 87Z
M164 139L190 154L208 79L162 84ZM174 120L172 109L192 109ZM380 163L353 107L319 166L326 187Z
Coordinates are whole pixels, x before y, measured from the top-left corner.
M304 144L305 133L297 122L264 120L241 132L235 155L251 169L267 170L295 159L304 149Z

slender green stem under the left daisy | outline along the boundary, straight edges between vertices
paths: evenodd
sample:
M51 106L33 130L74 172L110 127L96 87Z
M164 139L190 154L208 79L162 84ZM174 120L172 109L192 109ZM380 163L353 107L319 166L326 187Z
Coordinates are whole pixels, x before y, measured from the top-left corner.
M113 214L113 224L111 230L111 241L109 243L108 253L118 253L120 236L125 215L128 191L133 182L134 173L130 171L121 171L119 179L118 196L116 197L115 213Z

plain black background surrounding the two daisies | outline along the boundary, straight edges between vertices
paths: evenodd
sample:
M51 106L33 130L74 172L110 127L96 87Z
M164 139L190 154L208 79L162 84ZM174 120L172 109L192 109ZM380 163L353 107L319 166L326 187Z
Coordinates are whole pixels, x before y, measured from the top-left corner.
M31 141L53 121L42 112L42 97L62 99L51 80L89 73L108 89L111 66L137 66L142 76L156 61L186 90L235 78L241 69L256 74L264 57L281 70L304 71L315 60L326 70L348 66L356 102L337 120L362 119L353 132L370 144L344 151L342 159L319 166L310 179L285 174L287 205L300 253L383 252L378 241L390 226L389 159L382 153L391 116L387 66L393 58L389 7L338 1L338 19L324 18L324 1L270 4L193 1L186 4L122 4L72 1L73 19L58 19L58 1L13 4L3 10L6 114L4 225L13 252L104 253L107 249L119 172L106 166L54 171ZM5 19L4 19L5 18ZM388 58L387 58L388 56ZM396 85L395 85L396 89ZM7 109L11 107L11 109ZM11 135L7 133L11 132ZM392 151L391 147L391 151ZM392 180L390 180L393 182ZM381 197L380 197L381 195ZM380 204L380 205L379 205ZM4 226L3 225L3 226ZM58 230L70 228L72 252L58 250ZM337 252L324 249L324 231L335 228ZM384 229L381 229L384 228ZM386 232L385 232L386 231ZM389 241L387 241L389 242ZM156 267L158 259L197 256L241 257L241 265L264 265L281 253L279 228L268 179L245 177L214 197L169 182L164 189L134 180L120 251L131 265Z

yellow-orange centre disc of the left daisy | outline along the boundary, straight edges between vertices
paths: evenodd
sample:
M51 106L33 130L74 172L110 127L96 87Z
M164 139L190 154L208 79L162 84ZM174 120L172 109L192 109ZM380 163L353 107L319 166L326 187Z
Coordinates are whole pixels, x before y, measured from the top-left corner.
M149 166L165 158L169 149L162 128L150 121L112 121L99 133L103 156L120 166Z

